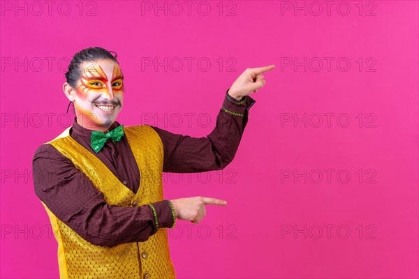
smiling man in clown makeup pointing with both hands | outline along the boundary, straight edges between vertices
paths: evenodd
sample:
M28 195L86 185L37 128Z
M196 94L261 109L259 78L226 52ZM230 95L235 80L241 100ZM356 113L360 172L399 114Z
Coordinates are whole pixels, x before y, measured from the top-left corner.
M255 100L274 66L249 68L226 92L208 137L172 134L116 121L124 75L110 52L75 54L63 85L76 114L73 126L34 155L35 193L58 242L61 278L175 278L167 228L200 223L205 205L220 199L163 199L162 172L223 169L237 151Z

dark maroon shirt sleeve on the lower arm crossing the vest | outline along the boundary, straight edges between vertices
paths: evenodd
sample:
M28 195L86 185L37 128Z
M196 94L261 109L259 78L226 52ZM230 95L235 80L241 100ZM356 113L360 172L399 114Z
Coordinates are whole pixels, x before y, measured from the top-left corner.
M156 233L149 205L107 204L90 179L50 144L41 145L32 161L34 190L54 216L97 246L147 241ZM159 227L175 220L168 201L155 202Z

